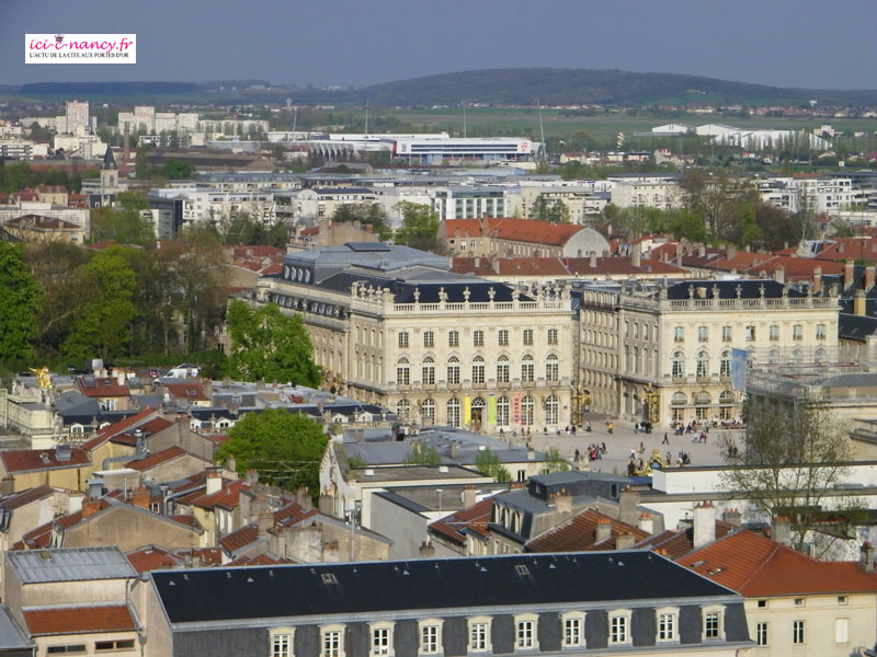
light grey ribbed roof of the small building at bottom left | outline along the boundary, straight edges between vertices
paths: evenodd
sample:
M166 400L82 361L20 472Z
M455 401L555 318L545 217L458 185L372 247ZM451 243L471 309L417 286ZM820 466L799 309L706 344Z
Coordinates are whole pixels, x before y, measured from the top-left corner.
M118 548L13 550L7 553L7 564L22 584L134 576L134 569Z

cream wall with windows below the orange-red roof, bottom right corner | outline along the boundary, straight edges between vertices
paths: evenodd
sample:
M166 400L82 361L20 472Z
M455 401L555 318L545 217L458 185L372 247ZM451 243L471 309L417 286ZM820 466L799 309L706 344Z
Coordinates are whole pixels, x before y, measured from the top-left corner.
M858 648L872 648L877 642L873 592L747 598L745 610L750 636L756 642L759 625L766 624L766 645L753 648L753 657L857 655ZM802 643L795 641L796 621L804 623Z

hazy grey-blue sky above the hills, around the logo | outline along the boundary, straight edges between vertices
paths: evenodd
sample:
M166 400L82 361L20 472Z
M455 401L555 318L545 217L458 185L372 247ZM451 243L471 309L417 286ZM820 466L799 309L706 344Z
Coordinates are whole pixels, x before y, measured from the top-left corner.
M874 0L0 0L0 84L366 87L555 67L877 88ZM136 65L25 65L27 33L135 33Z

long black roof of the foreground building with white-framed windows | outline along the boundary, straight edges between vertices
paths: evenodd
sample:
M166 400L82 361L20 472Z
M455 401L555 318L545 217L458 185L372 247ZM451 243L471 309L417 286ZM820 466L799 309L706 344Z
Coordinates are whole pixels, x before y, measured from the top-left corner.
M150 578L172 624L733 595L657 554L627 551L156 570Z

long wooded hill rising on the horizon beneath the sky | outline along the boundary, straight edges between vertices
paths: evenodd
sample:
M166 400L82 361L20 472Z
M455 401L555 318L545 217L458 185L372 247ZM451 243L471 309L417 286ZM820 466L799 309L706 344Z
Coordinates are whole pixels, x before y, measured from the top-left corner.
M345 96L386 105L654 103L875 105L877 90L783 89L671 73L589 69L496 69L443 73L366 87ZM350 99L353 100L353 99Z

